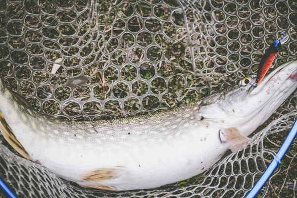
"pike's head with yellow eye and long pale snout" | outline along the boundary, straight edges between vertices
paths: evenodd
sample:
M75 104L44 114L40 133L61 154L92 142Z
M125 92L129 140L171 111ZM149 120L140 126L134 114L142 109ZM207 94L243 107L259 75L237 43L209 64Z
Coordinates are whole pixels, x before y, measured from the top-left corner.
M205 98L197 111L204 122L237 127L249 135L263 124L297 88L297 61L276 68L256 86L256 76Z

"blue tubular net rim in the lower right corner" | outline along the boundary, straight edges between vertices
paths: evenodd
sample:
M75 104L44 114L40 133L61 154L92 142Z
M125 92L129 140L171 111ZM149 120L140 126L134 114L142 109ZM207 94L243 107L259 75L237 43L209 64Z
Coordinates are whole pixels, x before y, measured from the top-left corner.
M297 135L297 120L295 120L295 123L293 124L289 134L287 135L284 143L282 144L279 151L276 153L276 156L272 160L272 162L269 164L267 169L264 171L258 182L252 187L250 192L247 194L246 198L254 198L260 190L263 188L263 186L266 184L268 179L271 177L277 166L281 165L281 160L285 156L286 152L288 151L289 147L292 145L295 137Z

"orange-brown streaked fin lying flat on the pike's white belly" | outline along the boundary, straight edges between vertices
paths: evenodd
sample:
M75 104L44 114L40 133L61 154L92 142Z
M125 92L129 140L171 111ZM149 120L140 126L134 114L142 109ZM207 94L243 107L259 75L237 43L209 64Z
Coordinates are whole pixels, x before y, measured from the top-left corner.
M126 168L121 166L111 168L98 168L84 174L83 180L90 182L99 182L102 180L114 179L121 176L125 172L125 170Z

